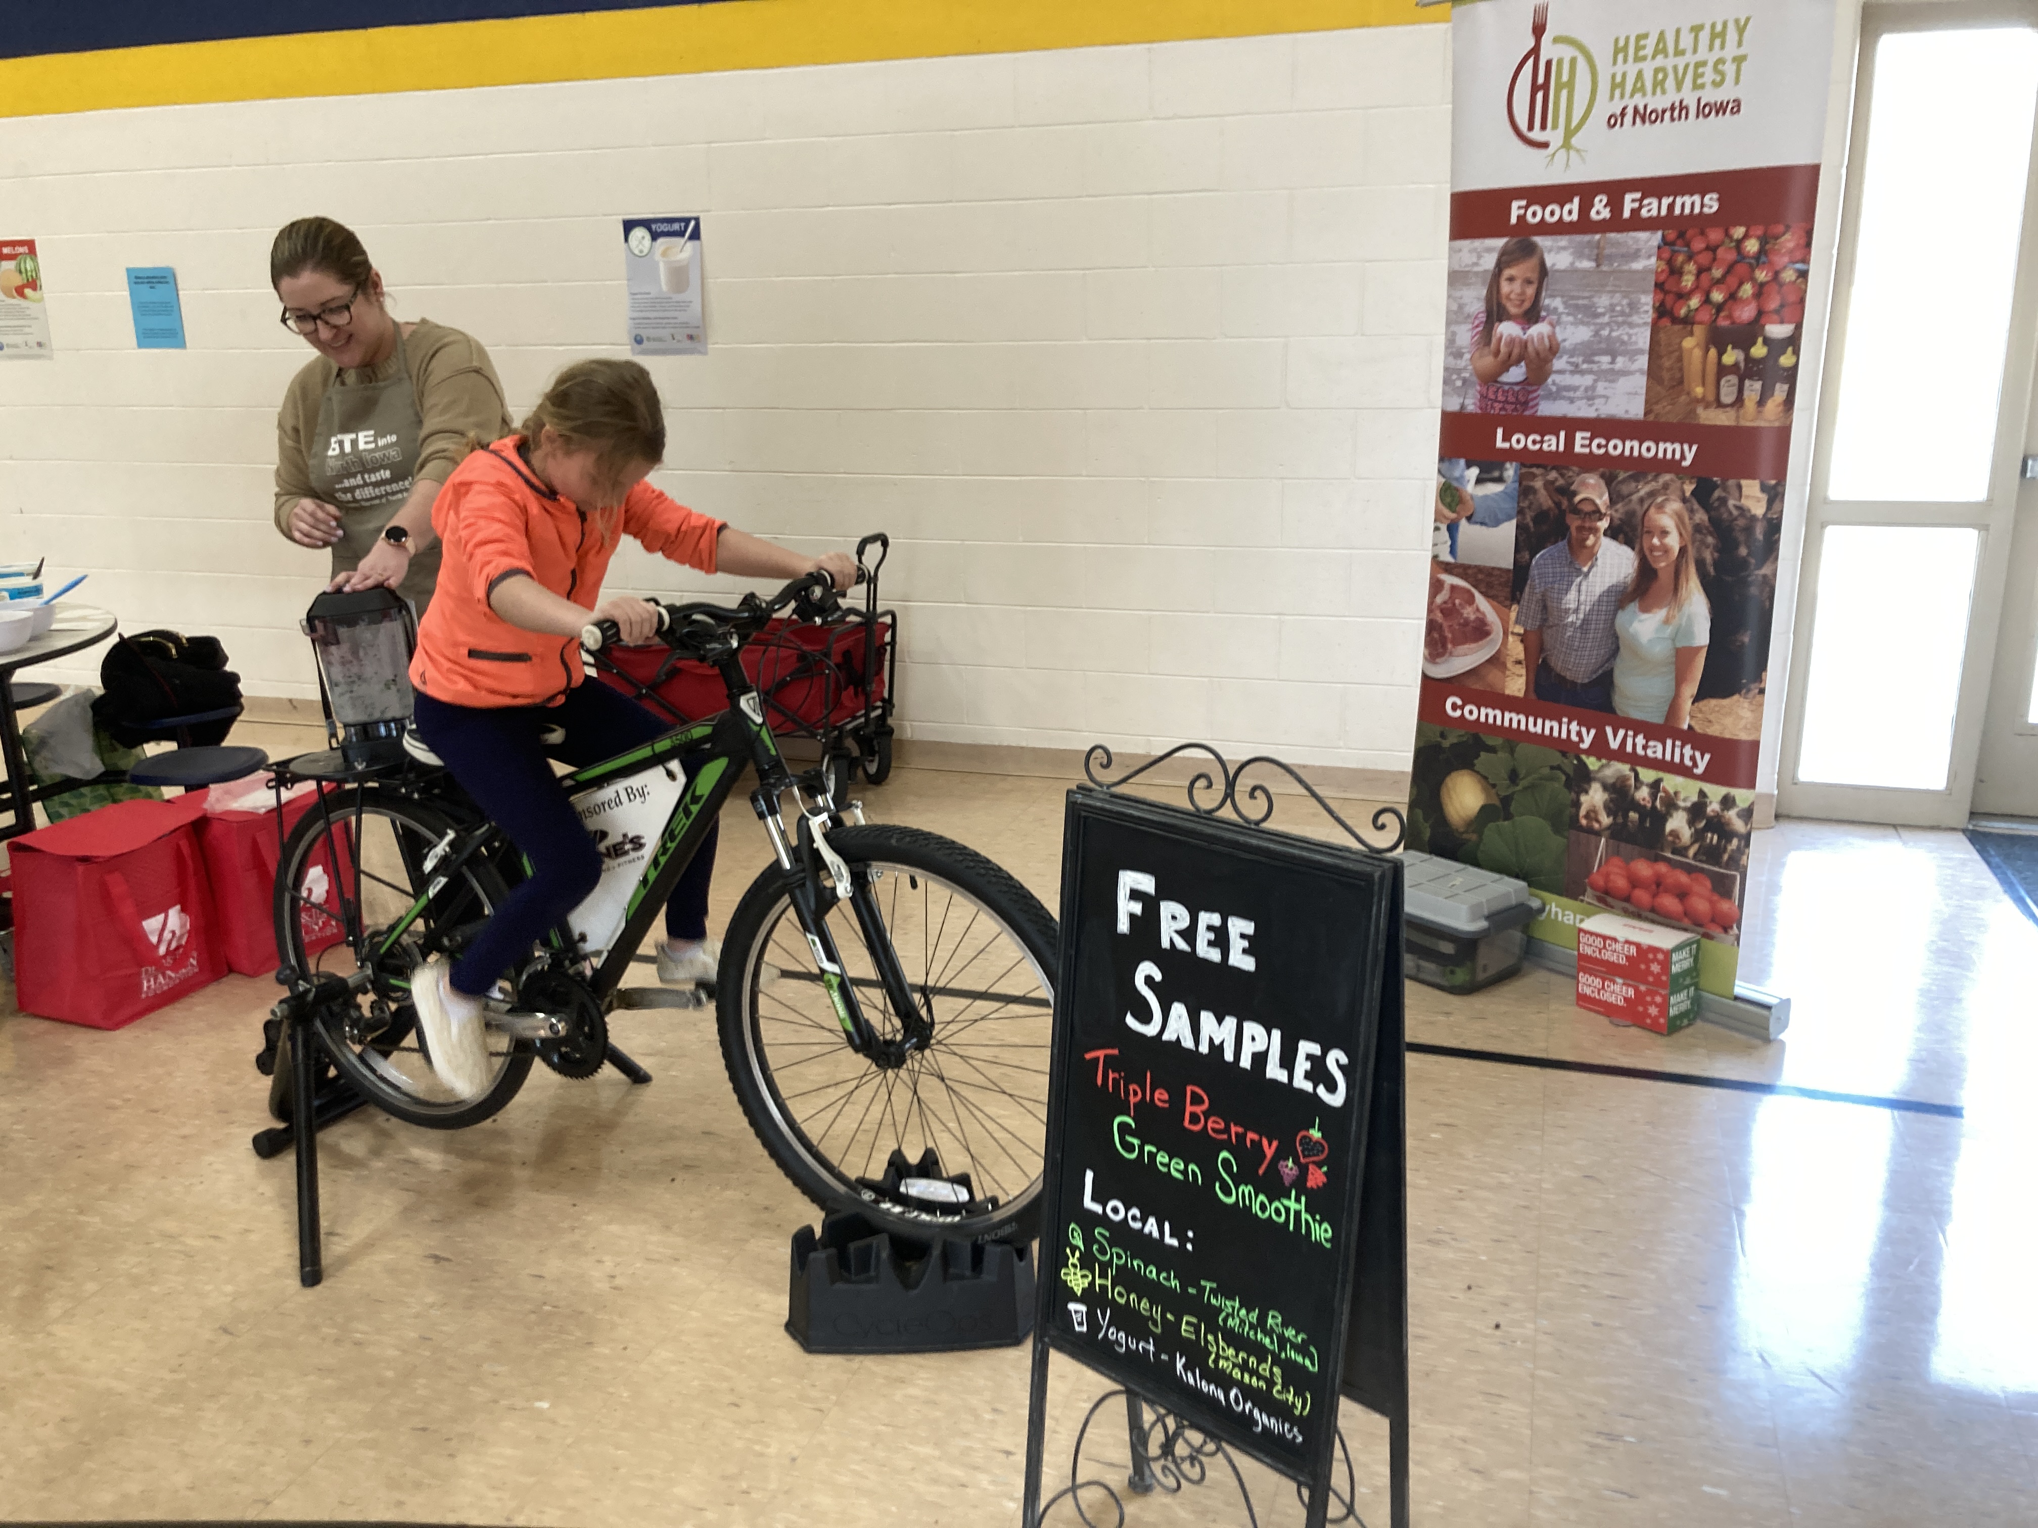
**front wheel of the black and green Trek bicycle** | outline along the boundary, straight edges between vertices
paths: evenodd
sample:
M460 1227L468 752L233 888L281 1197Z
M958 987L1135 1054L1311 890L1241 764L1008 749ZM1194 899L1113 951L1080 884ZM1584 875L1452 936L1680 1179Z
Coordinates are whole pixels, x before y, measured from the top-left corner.
M827 841L868 880L917 1013L893 1008L856 911L829 898L844 976L884 1053L852 1051L785 874L768 868L730 919L715 982L721 1059L750 1127L809 1198L903 1237L1039 1235L1054 917L952 839L844 827ZM944 1178L970 1176L970 1204L878 1188L895 1151L917 1165L927 1149Z

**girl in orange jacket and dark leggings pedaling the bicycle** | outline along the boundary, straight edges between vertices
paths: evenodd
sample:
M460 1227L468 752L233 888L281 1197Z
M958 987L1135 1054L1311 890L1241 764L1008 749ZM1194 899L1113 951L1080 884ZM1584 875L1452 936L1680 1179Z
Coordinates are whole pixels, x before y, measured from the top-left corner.
M487 1086L481 998L601 878L601 856L548 758L593 764L668 731L603 685L585 685L581 632L609 619L624 642L656 632L658 607L601 599L624 534L701 572L856 579L848 552L793 552L695 513L644 479L664 458L664 412L634 361L581 361L552 381L520 434L475 450L432 505L444 542L438 599L418 625L410 680L422 742L509 835L530 876L454 964L430 960L412 996L440 1080ZM560 740L558 733L565 733ZM658 980L713 980L709 839L666 905Z

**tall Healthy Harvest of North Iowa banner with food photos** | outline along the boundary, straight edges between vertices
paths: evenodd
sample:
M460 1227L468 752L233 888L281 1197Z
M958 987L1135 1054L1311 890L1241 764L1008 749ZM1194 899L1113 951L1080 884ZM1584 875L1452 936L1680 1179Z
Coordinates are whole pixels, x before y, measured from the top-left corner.
M1410 848L1742 939L1832 0L1484 0L1451 244Z

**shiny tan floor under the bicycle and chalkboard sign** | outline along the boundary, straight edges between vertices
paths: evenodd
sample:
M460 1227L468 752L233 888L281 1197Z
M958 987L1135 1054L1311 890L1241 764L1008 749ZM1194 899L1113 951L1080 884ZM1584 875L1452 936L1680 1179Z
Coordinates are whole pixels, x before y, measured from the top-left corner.
M901 770L868 803L1052 903L1062 788ZM717 917L764 860L740 803L726 829ZM2038 1524L2038 927L1954 833L1785 823L1757 870L1775 1045L1612 1027L1543 972L1410 988L1410 1037L1967 1118L1410 1057L1418 1528ZM471 1131L334 1127L302 1290L289 1159L247 1145L271 1000L0 1017L0 1520L1017 1522L1025 1349L781 1330L811 1210L701 1015L615 1019L648 1088L536 1070ZM1050 1477L1098 1389L1058 1361ZM1384 1428L1345 1430L1384 1528ZM1117 1432L1086 1473L1123 1479ZM1300 1522L1247 1473L1262 1522ZM1129 1516L1239 1520L1217 1485Z

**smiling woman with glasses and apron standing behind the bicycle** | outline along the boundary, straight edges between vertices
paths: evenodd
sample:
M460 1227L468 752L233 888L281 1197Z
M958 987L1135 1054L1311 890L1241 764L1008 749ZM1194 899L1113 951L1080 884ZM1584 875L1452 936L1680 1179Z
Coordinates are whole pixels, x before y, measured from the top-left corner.
M467 442L509 434L481 342L399 324L351 228L300 218L269 249L283 328L318 350L277 412L275 528L330 548L332 589L391 587L424 615L438 581L432 499Z

